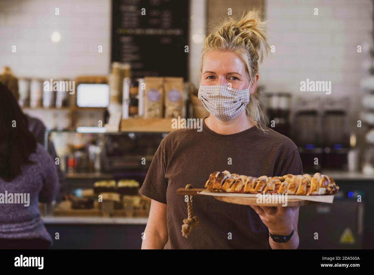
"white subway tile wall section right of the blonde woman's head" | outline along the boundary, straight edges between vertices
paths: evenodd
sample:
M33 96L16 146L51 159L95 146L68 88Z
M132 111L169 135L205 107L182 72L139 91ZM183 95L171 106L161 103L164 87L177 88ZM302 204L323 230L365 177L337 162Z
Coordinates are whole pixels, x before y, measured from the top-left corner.
M260 83L267 92L321 97L362 93L359 82L369 74L364 62L370 59L364 48L372 44L370 0L267 0L264 12L275 46L260 65ZM331 81L331 95L300 92L306 79Z

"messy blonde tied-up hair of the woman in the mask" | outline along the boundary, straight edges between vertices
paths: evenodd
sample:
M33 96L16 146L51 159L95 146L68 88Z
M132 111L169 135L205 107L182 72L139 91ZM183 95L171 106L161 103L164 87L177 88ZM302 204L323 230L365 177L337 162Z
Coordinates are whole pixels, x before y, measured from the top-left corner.
M258 60L263 61L270 53L269 39L266 31L267 22L261 20L259 9L243 13L240 19L226 19L204 41L201 51L199 79L201 80L203 61L211 51L229 51L236 53L246 69L249 80L254 83L258 72ZM260 92L251 94L245 108L251 123L262 131L267 131L266 116L263 114Z

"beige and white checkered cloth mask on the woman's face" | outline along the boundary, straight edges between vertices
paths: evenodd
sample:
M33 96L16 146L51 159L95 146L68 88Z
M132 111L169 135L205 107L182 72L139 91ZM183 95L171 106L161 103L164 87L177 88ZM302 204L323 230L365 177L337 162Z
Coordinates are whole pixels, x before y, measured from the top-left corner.
M197 97L205 109L221 121L237 117L249 103L249 87L237 90L224 85L200 85Z

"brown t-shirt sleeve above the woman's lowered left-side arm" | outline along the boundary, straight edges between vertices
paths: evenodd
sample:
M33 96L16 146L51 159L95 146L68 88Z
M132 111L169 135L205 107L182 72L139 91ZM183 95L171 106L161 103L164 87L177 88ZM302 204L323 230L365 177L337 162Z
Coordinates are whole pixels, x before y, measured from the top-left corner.
M145 176L140 193L155 201L166 204L166 189L168 181L165 178L165 138L161 141L153 156L151 165Z

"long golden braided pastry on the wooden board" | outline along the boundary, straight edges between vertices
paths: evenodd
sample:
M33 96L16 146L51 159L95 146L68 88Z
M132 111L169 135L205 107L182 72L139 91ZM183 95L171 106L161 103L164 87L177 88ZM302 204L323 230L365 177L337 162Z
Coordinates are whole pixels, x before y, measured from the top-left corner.
M315 173L283 177L258 178L231 174L229 171L213 172L205 183L205 188L212 192L228 193L285 193L287 195L334 195L339 186L328 175Z

